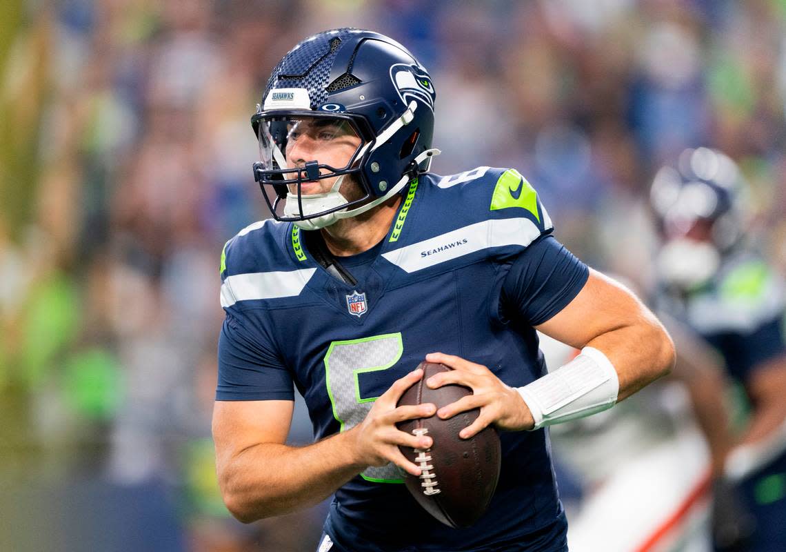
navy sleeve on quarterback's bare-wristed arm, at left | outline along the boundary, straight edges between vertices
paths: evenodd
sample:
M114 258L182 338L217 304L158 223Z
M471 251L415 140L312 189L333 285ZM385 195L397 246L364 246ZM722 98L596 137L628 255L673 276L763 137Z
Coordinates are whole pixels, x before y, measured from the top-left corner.
M274 351L227 314L219 335L216 400L294 400L292 376Z

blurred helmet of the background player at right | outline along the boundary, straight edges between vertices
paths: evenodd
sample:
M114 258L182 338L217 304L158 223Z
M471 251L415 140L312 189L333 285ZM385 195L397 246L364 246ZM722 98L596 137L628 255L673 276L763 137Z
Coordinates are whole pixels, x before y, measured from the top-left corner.
M662 244L657 259L664 283L692 288L718 270L722 256L744 236L747 184L736 163L715 149L685 149L662 167L650 189Z

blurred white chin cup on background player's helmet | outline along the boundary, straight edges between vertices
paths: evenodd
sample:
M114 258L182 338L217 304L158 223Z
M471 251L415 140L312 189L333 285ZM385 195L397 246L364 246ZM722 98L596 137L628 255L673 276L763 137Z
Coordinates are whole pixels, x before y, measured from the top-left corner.
M721 256L714 245L682 237L663 246L657 270L663 282L687 289L707 282L720 263Z

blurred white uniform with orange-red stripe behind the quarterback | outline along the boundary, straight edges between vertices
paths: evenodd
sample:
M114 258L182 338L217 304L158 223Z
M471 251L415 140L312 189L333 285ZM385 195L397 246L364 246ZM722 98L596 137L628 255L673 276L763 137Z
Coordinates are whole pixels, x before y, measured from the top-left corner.
M539 337L549 370L578 354ZM710 454L680 384L656 382L550 432L556 460L584 489L567 505L571 552L711 550Z

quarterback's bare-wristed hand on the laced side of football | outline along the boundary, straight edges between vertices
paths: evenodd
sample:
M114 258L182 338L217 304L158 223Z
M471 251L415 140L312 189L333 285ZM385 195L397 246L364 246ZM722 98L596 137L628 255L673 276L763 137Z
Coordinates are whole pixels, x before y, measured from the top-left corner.
M358 462L363 466L385 466L387 462L393 462L413 476L421 475L421 468L406 459L399 451L399 445L426 449L432 446L432 438L413 436L395 426L399 421L428 418L434 414L436 407L433 403L396 407L404 392L421 377L423 370L417 369L396 380L374 401L365 419L350 430L354 432Z

